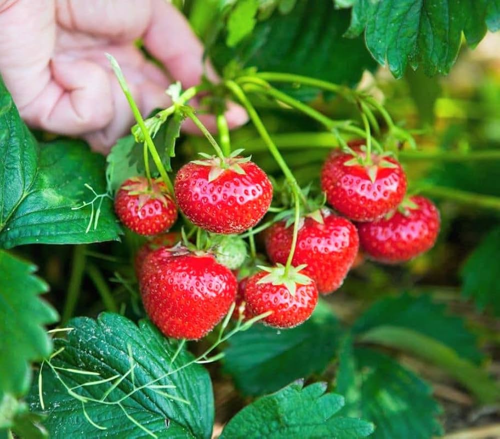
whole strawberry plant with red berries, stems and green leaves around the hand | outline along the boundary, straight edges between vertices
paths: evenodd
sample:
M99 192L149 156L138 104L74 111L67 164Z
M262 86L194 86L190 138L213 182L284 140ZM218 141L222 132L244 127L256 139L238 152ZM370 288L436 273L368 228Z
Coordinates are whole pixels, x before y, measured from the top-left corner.
M107 157L0 81L0 437L498 436L500 5L172 3L220 77L107 55Z

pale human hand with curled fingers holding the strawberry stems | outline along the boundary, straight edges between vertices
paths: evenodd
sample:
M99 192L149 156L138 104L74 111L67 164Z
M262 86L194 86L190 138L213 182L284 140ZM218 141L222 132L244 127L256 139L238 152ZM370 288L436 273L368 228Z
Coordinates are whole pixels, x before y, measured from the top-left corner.
M120 64L143 115L170 104L164 92L172 80L183 88L203 73L217 80L202 64L200 42L166 0L0 0L0 29L0 73L21 117L35 128L83 137L103 153L134 121L106 52ZM138 38L170 78L134 47ZM247 116L229 103L226 118L234 127ZM200 119L215 130L213 116ZM182 128L198 133L190 121Z

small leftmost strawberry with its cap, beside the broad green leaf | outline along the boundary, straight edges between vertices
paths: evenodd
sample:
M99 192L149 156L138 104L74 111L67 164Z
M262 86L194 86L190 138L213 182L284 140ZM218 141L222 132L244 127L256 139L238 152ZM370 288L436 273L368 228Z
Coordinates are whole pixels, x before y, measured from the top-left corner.
M162 181L145 177L125 180L114 198L114 210L120 221L139 235L167 231L177 219L177 207Z

